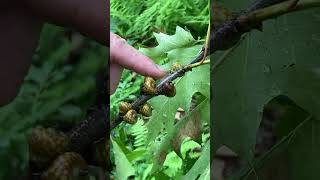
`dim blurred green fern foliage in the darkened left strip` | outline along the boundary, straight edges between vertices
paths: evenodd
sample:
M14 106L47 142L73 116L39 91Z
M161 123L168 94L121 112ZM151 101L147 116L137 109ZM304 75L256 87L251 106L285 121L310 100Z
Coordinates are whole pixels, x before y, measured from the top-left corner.
M0 108L0 179L16 179L28 168L32 127L70 128L84 117L107 52L72 30L45 25L18 96Z

